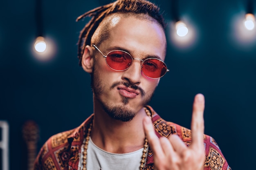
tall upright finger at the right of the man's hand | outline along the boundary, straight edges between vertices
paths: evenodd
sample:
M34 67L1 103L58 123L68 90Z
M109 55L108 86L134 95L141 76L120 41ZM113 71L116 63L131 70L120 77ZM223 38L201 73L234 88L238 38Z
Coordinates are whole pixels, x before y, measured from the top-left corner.
M204 137L204 95L195 95L191 120L192 146L200 148L203 146Z

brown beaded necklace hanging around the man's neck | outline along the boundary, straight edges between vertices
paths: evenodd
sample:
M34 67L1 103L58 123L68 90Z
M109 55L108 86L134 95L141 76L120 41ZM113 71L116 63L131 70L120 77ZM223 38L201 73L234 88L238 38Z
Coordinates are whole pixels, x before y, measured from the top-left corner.
M144 108L144 110L146 111L146 114L152 119L150 111L146 107ZM87 132L87 135L86 135L86 138L85 138L85 143L84 143L84 146L83 146L83 149L84 149L83 150L83 170L86 170L87 149L88 149L88 143L89 143L89 139L90 139L91 130L92 130L92 123L90 124L90 127L88 128L88 132ZM142 152L140 166L139 166L140 170L143 170L143 168L144 168L147 148L148 148L148 139L147 139L147 137L145 137L144 149L143 149L143 152Z

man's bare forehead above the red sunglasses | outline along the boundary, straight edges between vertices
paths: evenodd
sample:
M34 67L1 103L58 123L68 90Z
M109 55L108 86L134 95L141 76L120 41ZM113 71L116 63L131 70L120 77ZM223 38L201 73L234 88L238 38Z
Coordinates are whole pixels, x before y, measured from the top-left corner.
M157 55L164 60L166 37L163 27L145 14L113 14L108 22L109 36L103 44L118 46L141 55ZM103 45L102 44L102 45Z

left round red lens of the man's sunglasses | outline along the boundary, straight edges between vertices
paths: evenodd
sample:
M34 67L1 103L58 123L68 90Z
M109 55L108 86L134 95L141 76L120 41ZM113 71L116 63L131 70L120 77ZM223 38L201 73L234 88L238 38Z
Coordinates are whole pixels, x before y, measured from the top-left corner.
M106 57L110 68L116 71L123 71L130 67L132 57L125 51L111 51Z

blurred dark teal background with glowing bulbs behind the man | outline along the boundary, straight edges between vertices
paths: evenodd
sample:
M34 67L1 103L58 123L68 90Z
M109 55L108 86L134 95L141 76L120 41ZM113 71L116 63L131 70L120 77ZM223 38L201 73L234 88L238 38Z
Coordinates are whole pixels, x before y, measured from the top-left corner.
M89 18L76 18L109 2L0 2L0 136L9 127L9 145L0 158L8 148L9 170L29 169L27 159L50 136L79 126L93 113L90 75L78 65L76 45ZM203 93L205 134L217 141L232 170L252 169L256 28L253 16L245 21L247 13L256 14L256 1L153 2L168 23L170 72L150 106L162 118L190 128L193 97ZM38 36L46 42L44 52L34 49Z

